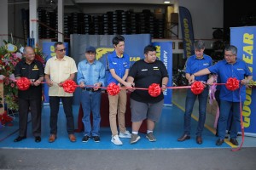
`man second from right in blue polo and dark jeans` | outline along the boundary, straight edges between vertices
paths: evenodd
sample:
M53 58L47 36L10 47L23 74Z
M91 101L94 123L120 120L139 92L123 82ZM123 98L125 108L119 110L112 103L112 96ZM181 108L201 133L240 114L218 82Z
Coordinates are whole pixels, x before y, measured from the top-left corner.
M186 78L189 78L197 71L201 71L212 65L212 58L206 54L204 54L205 50L205 42L198 40L195 41L194 44L195 54L190 56L186 62ZM196 77L196 81L207 82L208 76ZM186 105L185 105L185 114L184 114L184 133L183 135L177 139L179 142L183 142L186 139L190 139L190 131L191 131L191 114L193 111L193 107L195 104L195 99L198 97L199 103L199 119L196 129L196 143L202 144L201 134L204 129L205 121L206 121L206 111L207 111L207 99L208 99L209 88L206 87L201 94L193 94L191 89L189 88L187 91L186 97Z

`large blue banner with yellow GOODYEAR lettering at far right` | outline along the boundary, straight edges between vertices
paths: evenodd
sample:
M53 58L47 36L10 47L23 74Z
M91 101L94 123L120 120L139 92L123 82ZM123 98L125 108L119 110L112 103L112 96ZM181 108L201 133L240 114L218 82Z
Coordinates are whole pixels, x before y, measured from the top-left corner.
M243 59L249 69L253 72L253 81L256 77L256 26L230 28L230 44L237 48L237 58ZM245 133L249 136L256 136L256 89L248 88L246 100L242 106L243 126Z

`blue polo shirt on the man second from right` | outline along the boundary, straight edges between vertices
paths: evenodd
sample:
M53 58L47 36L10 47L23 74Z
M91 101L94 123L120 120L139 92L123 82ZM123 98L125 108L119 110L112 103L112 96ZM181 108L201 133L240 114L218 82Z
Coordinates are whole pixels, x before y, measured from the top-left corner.
M196 59L196 56L192 55L189 57L189 59L187 59L185 72L192 75L195 72L208 68L211 65L212 65L212 58L209 55L204 54L202 59ZM195 80L207 82L208 75L195 77Z

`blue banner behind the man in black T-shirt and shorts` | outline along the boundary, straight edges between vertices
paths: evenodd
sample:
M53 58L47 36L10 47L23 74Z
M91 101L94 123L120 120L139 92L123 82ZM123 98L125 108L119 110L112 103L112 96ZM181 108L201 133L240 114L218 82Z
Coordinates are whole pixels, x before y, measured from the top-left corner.
M167 87L172 87L172 42L153 42L156 47L156 54L165 65L169 74L169 82ZM172 89L167 89L164 92L165 101L164 104L172 104Z

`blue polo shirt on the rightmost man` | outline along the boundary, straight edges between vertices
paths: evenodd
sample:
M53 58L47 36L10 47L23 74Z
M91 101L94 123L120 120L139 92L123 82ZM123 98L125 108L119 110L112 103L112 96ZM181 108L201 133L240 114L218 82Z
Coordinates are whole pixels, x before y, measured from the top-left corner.
M227 80L232 77L236 77L241 81L247 76L252 76L252 72L249 70L247 64L241 60L236 59L236 63L230 65L226 60L219 61L216 65L212 65L208 68L212 73L218 74L221 83L226 83ZM240 91L240 92L239 92ZM241 93L241 101L246 99L246 87L241 86L241 89L230 91L225 85L221 85L219 99L231 102L239 102L239 94Z

